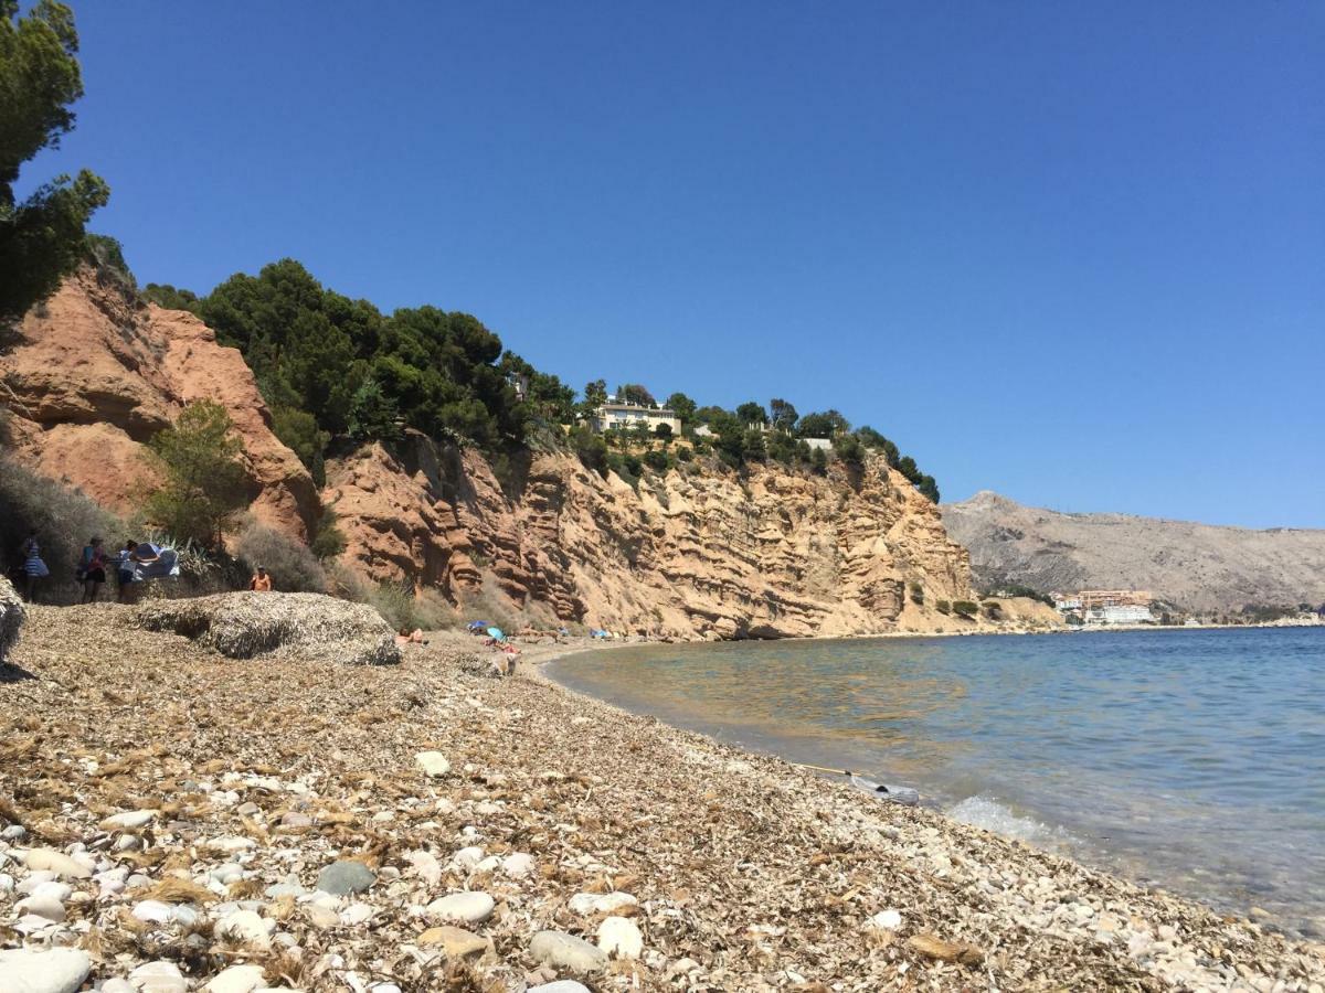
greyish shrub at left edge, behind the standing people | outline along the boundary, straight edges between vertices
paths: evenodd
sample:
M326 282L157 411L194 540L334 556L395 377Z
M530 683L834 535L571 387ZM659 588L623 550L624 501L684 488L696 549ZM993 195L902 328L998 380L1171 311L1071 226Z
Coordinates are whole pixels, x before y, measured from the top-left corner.
M74 569L89 538L103 539L111 553L126 540L139 540L123 519L81 490L0 458L0 561L5 571L23 564L20 548L33 528L42 561L50 569L38 596L54 602L77 598Z

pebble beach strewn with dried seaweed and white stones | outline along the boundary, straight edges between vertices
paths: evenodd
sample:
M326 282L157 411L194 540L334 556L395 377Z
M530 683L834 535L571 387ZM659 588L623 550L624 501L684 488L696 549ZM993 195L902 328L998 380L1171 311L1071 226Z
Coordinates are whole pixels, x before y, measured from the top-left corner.
M1325 948L432 636L237 661L34 608L0 992L1302 990Z

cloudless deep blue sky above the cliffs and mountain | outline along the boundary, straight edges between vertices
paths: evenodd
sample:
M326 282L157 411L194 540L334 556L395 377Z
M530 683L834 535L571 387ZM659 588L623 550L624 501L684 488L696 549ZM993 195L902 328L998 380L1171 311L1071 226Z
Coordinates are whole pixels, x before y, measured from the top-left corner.
M290 256L576 388L1325 527L1325 4L74 3L140 282Z

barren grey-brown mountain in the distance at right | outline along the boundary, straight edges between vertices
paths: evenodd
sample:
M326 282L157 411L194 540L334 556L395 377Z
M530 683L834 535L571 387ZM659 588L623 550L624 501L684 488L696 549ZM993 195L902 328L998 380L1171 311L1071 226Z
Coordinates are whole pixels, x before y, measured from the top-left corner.
M988 490L943 507L982 587L1149 589L1191 610L1325 601L1325 531L1061 514Z

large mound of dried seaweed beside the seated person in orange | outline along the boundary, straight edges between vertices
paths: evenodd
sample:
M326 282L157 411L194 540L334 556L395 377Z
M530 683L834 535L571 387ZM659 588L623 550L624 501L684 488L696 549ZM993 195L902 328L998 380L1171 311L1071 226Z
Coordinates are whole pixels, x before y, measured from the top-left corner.
M400 661L395 633L371 606L321 593L217 593L154 600L132 622L174 632L228 658L318 658L347 665Z

